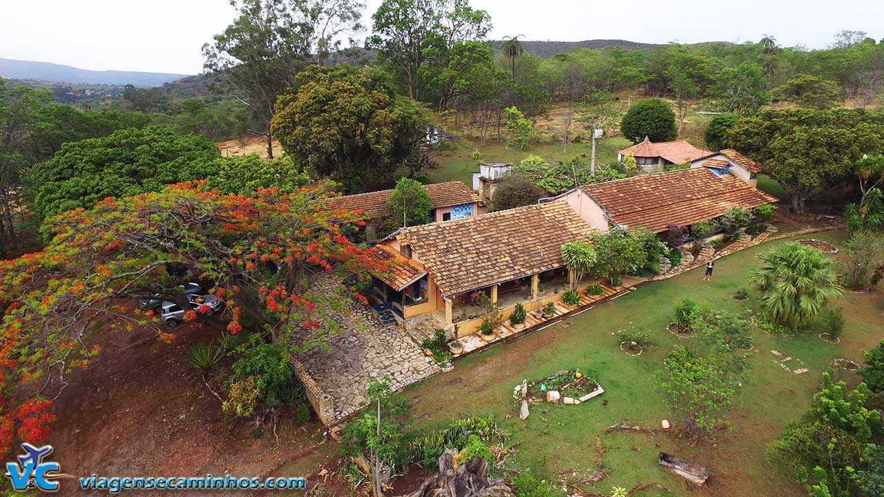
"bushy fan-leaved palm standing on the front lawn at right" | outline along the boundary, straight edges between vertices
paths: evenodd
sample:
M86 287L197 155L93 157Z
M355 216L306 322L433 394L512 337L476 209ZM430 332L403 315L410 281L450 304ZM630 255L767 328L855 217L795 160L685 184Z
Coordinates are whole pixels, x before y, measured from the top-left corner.
M756 257L761 266L749 280L765 291L759 303L775 323L794 330L807 328L829 297L844 294L836 283L832 259L819 248L791 242Z

